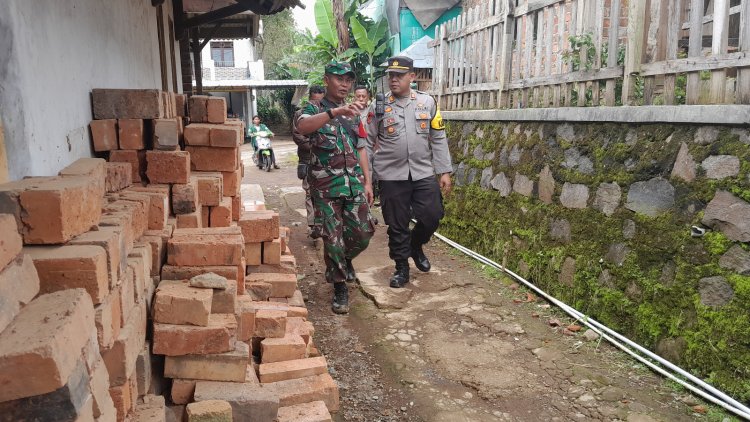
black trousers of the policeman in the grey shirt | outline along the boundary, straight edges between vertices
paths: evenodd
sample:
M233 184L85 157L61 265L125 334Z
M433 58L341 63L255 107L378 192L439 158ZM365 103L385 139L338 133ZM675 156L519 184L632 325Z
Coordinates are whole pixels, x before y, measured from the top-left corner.
M380 205L388 225L389 255L406 260L411 248L427 243L443 218L443 196L435 176L420 180L381 180ZM409 220L417 224L409 231Z

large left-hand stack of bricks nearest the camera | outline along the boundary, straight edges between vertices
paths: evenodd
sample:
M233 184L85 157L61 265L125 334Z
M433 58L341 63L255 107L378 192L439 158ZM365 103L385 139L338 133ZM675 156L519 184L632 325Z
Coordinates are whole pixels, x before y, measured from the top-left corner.
M149 391L155 254L142 235L158 195L105 194L105 174L104 160L81 159L0 185L7 420L124 420Z

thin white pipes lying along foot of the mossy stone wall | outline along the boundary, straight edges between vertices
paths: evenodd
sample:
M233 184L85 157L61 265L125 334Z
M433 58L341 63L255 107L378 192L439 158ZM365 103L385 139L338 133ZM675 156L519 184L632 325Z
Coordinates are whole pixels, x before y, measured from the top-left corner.
M452 241L451 239L448 239L447 237L435 233L435 237L442 240L446 244L458 249L459 251L463 252L466 255L469 255L470 257L476 259L477 261L489 265L490 267L493 267L497 270L503 271L510 275L511 277L515 278L516 280L523 283L526 287L530 288L531 290L534 290L539 296L544 297L549 302L554 304L555 306L559 307L566 313L568 313L570 316L575 318L578 321L581 321L584 325L594 330L596 333L600 334L605 340L612 343L615 347L621 349L625 353L631 355L636 360L640 361L641 363L645 364L649 368L653 369L654 371L658 372L659 374L662 374L666 376L667 378L679 383L683 387L687 388L688 390L692 391L693 393L703 397L704 399L719 405L723 407L724 409L734 413L737 416L740 416L742 418L745 418L747 420L750 420L750 408L745 406L744 404L738 402L737 400L733 399L732 397L728 396L726 393L716 389L712 385L706 383L705 381L701 380L700 378L694 376L693 374L685 371L684 369L680 368L679 366L673 364L672 362L662 358L661 356L651 352L650 350L644 348L643 346L639 345L638 343L633 342L632 340L628 339L627 337L623 336L622 334L612 330L611 328L607 327L604 324L601 324L600 322L594 320L593 318L587 317L586 315L582 314L575 308L569 306L568 304L561 302L560 300L550 296L543 290L541 290L539 287L532 284L530 281L526 280L525 278L521 277L520 275L514 273L513 271L503 267L502 265L492 261L491 259L480 255L477 252L474 252L473 250L456 243ZM615 338L617 338L617 340ZM619 341L618 341L619 340ZM655 363L651 362L650 360L646 359L645 357L637 354L628 346L625 344L622 344L620 342L626 343L628 346L638 350L640 353L643 353L644 355L648 356L649 358L661 363L662 365L666 366L667 368L671 369L672 371L676 372L677 374L681 375L682 377L692 381L693 383L697 384L693 385L690 382L686 381L683 378L679 378L676 375L668 372L666 369L656 365Z

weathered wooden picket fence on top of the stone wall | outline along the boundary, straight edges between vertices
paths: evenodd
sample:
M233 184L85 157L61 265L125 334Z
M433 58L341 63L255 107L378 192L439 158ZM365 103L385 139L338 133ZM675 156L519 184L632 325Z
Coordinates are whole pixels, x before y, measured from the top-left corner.
M446 110L750 104L750 0L484 0L430 45Z

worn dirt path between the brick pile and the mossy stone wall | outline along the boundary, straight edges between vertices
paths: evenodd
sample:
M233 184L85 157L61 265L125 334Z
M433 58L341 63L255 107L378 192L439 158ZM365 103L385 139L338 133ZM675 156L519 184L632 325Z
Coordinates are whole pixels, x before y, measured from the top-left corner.
M700 405L607 344L566 332L573 321L433 239L433 270L412 266L407 288L387 287L385 227L355 259L352 312L330 311L319 243L306 235L296 148L280 138L282 168L248 167L268 208L292 227L300 288L315 343L339 383L337 421L717 420ZM375 209L379 215L379 209ZM381 218L382 221L382 218ZM559 326L550 321L558 320ZM567 335L566 335L567 334Z

